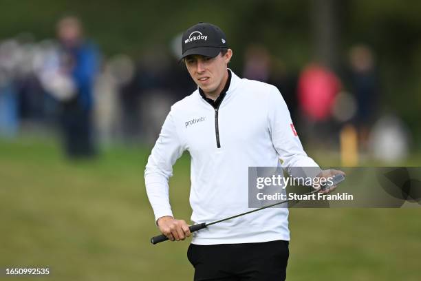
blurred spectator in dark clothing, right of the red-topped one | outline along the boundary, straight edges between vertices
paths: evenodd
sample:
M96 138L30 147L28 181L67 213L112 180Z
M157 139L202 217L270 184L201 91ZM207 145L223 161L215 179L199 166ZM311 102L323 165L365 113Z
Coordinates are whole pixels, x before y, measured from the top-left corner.
M378 103L378 81L374 56L365 45L356 45L349 51L349 83L356 98L358 138L363 149L367 148L369 127L374 122Z

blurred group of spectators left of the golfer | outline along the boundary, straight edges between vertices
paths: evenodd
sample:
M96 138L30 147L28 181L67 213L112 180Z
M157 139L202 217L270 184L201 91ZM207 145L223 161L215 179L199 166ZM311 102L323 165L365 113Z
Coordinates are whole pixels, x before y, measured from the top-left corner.
M49 129L71 157L95 155L98 143L152 143L169 107L195 90L166 50L105 59L76 17L58 21L56 35L0 41L0 136Z

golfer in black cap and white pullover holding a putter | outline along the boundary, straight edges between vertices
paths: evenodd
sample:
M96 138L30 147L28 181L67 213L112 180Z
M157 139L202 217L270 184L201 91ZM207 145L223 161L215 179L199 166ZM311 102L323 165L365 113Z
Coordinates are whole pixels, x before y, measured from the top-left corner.
M224 32L210 23L188 28L182 58L197 90L171 107L145 170L160 231L191 235L174 218L168 179L184 150L191 155L191 220L211 222L248 211L248 167L318 167L307 157L276 87L240 79ZM339 171L324 171L323 176ZM315 176L315 175L314 175ZM195 280L284 280L288 209L269 208L197 231L188 248Z

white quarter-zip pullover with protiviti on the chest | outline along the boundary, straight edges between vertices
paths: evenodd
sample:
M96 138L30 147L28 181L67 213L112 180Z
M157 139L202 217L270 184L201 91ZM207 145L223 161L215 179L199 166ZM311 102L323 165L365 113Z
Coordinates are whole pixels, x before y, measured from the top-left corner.
M228 70L230 71L230 70ZM152 149L144 178L155 220L173 216L169 177L177 158L191 155L190 204L194 223L213 222L248 208L248 167L318 167L303 151L277 87L231 72L214 108L196 90L171 107ZM315 175L312 175L315 176ZM187 187L186 187L187 188ZM290 240L288 209L268 208L193 234L193 244Z

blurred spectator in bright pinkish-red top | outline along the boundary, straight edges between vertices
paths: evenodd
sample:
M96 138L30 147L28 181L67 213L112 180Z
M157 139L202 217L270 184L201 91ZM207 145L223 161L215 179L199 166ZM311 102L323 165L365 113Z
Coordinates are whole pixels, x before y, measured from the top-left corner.
M297 91L307 138L323 141L324 136L332 134L329 122L341 87L336 74L322 65L311 63L301 72Z

